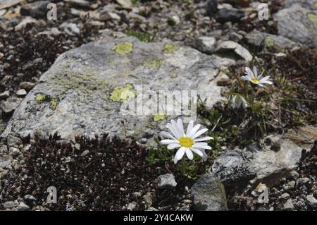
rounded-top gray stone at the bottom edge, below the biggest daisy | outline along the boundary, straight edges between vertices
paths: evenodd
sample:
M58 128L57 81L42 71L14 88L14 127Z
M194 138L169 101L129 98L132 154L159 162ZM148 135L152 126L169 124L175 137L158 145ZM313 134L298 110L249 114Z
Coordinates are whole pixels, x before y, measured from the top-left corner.
M213 174L204 174L192 186L192 207L197 211L228 210L225 188Z

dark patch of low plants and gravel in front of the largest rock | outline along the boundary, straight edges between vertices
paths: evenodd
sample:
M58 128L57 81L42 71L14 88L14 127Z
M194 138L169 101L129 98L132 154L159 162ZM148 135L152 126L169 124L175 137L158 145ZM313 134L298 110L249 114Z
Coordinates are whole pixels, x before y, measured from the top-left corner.
M15 140L13 159L8 159L12 163L1 169L0 199L7 203L0 209L19 210L21 204L32 210L70 211L189 207L192 180L174 169L174 184L162 188L158 177L169 174L172 166L150 165L144 147L107 136L75 137L73 144L57 134ZM46 203L49 186L58 187L58 204ZM12 207L6 207L10 202Z

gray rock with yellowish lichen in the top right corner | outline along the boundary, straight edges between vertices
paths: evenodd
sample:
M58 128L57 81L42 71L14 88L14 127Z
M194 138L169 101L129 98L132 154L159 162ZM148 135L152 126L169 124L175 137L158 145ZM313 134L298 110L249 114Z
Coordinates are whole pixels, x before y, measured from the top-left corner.
M276 13L278 33L295 42L317 47L317 7L315 0L286 1Z

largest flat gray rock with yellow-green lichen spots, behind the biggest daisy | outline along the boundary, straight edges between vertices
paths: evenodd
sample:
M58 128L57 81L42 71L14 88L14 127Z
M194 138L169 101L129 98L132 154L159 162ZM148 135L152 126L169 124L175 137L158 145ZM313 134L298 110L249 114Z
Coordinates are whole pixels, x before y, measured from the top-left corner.
M211 107L223 99L223 87L214 80L217 68L232 63L232 59L208 56L190 47L139 42L135 37L85 44L56 59L15 110L1 136L32 135L38 130L58 131L62 138L104 132L142 138L147 129L155 131L152 136L157 135L166 129L166 119L179 112L133 115L128 103L138 101L138 97L143 106L156 103L154 95L149 99L145 94L159 90L197 90ZM143 90L137 89L139 85ZM172 105L168 102L164 107ZM125 121L124 126L121 121Z

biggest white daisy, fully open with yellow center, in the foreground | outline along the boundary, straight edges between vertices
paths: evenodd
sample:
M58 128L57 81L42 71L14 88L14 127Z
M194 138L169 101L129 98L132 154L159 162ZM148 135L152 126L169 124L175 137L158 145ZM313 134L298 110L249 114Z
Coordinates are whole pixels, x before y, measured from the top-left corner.
M171 123L166 125L166 127L172 134L162 131L160 135L169 139L161 140L161 144L168 145L169 150L179 148L174 157L175 164L182 159L185 153L187 158L190 160L194 158L192 152L198 154L203 159L207 158L205 150L211 150L211 147L203 141L212 140L213 138L208 136L199 138L199 136L205 133L208 129L204 128L198 130L200 128L200 124L194 126L194 122L189 121L187 131L185 133L182 126L182 120L180 118L177 123L172 120Z

